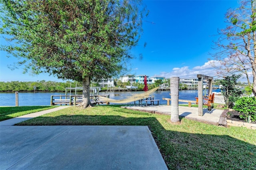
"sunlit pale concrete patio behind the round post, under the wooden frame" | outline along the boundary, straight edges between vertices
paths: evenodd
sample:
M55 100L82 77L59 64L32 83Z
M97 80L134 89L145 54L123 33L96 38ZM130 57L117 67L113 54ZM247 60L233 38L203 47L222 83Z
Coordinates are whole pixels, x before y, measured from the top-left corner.
M165 114L171 115L171 107L166 105L158 105L158 106L149 106L149 107L141 107L141 106L128 106L125 107L127 109L133 109L138 111L145 111L150 113L157 113L157 114ZM192 119L195 121L218 125L220 120L220 115L222 114L223 110L220 109L212 109L212 111L208 111L207 108L203 109L203 116L198 116L198 107L185 107L179 106L179 116L185 117L187 119Z

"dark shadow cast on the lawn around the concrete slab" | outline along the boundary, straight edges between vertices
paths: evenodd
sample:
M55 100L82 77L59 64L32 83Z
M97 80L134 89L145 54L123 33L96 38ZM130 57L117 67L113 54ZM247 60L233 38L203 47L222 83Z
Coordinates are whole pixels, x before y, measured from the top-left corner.
M228 135L182 132L190 126L184 120L182 125L164 128L156 117L61 115L37 117L17 125L148 126L169 169L256 169L255 145Z

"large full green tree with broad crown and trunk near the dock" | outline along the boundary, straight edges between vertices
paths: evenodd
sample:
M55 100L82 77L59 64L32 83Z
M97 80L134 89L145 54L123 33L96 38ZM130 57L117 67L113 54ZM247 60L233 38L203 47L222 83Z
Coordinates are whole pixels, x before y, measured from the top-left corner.
M47 72L82 82L90 103L90 81L117 75L133 58L145 8L139 0L0 0L2 47L25 71Z

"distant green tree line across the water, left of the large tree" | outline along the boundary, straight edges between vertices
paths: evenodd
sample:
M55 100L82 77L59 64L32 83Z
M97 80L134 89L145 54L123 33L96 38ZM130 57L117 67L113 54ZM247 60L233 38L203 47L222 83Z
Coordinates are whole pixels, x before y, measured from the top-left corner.
M80 82L56 82L56 81L8 81L8 82L0 82L0 91L65 91L66 87L82 87L82 83Z

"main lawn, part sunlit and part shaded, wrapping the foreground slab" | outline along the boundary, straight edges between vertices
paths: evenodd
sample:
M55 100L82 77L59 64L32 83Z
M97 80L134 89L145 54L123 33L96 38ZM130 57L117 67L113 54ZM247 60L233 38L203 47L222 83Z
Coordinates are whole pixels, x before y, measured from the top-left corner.
M102 105L68 107L18 125L136 125L148 126L169 169L256 170L256 131L218 127L170 116Z

